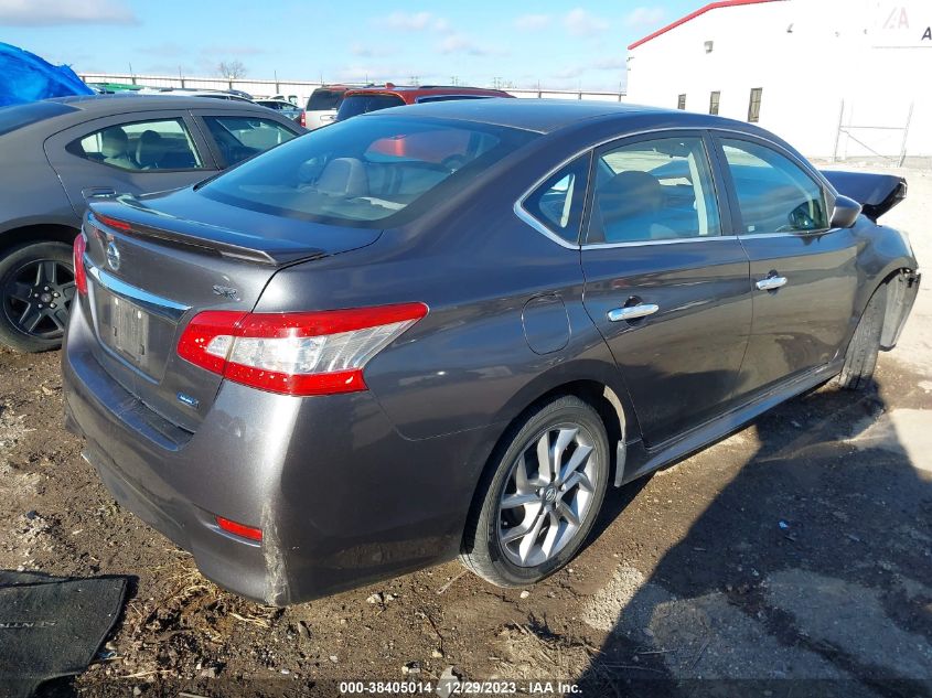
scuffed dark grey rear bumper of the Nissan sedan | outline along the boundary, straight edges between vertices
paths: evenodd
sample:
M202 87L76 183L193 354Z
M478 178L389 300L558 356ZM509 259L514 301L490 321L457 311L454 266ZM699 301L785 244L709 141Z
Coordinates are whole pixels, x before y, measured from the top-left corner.
M113 380L75 303L68 427L125 507L222 587L297 603L453 558L497 429L403 438L369 393L315 398L225 383L195 433ZM263 529L227 534L216 516Z

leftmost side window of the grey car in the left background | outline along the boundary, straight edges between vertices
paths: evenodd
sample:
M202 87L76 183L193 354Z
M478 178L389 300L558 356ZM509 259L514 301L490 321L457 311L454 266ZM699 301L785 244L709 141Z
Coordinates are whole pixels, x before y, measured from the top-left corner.
M108 126L72 141L67 150L120 170L199 170L203 167L182 119Z

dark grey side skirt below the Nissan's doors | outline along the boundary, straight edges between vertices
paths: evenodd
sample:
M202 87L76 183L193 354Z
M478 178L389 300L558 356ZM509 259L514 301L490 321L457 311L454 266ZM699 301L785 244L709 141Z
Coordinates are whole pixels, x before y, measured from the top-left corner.
M806 372L756 397L750 402L730 409L720 417L653 449L644 448L643 441L629 443L626 448L619 443L619 463L624 463L624 468L617 469L614 485L620 487L632 480L683 460L687 455L724 439L772 407L776 407L781 402L811 390L836 376L842 371L844 357Z

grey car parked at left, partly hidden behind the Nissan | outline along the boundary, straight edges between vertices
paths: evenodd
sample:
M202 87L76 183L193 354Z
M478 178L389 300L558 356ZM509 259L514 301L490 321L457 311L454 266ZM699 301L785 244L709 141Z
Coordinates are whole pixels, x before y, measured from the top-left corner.
M257 105L67 97L0 109L0 343L61 345L88 200L192 184L302 133Z

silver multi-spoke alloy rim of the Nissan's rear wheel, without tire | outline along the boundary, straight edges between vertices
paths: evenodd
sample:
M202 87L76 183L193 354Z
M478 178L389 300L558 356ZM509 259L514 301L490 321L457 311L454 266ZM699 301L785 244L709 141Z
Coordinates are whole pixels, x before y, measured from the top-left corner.
M580 425L548 427L512 464L499 502L499 544L518 567L551 560L582 528L599 484L594 440Z

